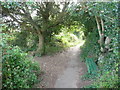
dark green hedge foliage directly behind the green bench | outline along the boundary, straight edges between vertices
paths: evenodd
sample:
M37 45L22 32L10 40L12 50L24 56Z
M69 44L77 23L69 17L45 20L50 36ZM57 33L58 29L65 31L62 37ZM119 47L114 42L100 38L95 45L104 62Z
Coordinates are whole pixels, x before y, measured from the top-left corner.
M96 61L99 55L99 47L97 30L93 30L86 37L85 43L81 47L82 60L85 61L87 58L92 57Z

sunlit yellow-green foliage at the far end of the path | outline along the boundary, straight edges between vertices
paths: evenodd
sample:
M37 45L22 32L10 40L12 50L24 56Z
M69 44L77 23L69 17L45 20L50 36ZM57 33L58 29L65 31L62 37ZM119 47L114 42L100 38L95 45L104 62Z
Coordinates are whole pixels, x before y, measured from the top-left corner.
M50 38L48 36L45 37L45 54L51 55L80 43L84 36L82 32L84 27L77 25L77 22L74 22L74 24L63 26L60 30L61 32L52 34Z

